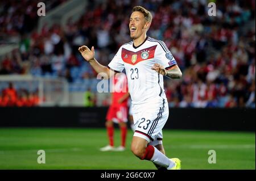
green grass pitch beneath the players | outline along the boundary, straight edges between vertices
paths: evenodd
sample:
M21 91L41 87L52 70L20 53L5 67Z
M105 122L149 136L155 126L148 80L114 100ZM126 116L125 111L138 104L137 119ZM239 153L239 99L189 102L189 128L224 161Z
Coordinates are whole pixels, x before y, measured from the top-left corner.
M115 145L119 146L115 129ZM168 157L182 161L182 169L255 169L255 133L163 130ZM0 128L0 169L155 169L130 151L133 133L123 152L101 152L108 143L105 129ZM39 164L38 150L46 151ZM216 163L208 163L208 151Z

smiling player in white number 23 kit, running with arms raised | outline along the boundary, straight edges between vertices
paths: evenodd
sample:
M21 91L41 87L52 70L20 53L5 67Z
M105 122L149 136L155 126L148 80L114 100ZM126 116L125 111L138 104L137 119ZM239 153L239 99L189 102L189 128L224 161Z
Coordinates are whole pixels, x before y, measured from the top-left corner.
M162 129L168 119L169 109L163 87L163 75L181 78L181 71L163 41L146 35L152 15L141 6L135 6L130 16L130 43L123 44L108 67L94 58L94 47L85 45L80 53L97 73L113 76L113 71L126 70L132 100L134 125L131 151L140 159L153 162L168 170L181 169L178 158L169 159L163 147Z

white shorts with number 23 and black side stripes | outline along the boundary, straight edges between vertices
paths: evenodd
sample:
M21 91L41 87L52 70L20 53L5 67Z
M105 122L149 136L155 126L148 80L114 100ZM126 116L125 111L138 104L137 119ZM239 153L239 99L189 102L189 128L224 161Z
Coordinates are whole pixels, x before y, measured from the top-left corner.
M168 104L133 113L135 133L133 136L147 140L150 145L162 144L162 129L169 116Z

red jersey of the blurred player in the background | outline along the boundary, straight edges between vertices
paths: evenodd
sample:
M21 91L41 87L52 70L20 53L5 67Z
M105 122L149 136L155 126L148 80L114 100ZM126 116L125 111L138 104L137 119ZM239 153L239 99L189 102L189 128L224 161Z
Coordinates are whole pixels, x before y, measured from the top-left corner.
M112 92L112 106L127 106L128 98L121 104L118 103L118 100L128 92L127 78L125 74L115 74L112 83Z

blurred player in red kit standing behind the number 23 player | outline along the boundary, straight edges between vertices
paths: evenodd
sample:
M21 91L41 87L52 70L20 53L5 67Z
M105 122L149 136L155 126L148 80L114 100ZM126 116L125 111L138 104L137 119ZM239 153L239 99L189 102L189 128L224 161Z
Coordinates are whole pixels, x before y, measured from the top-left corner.
M114 76L112 82L112 104L106 116L106 129L109 138L109 145L101 148L101 151L124 151L127 135L127 101L130 96L127 87L127 78L123 73ZM114 148L114 123L119 124L121 129L121 146Z

